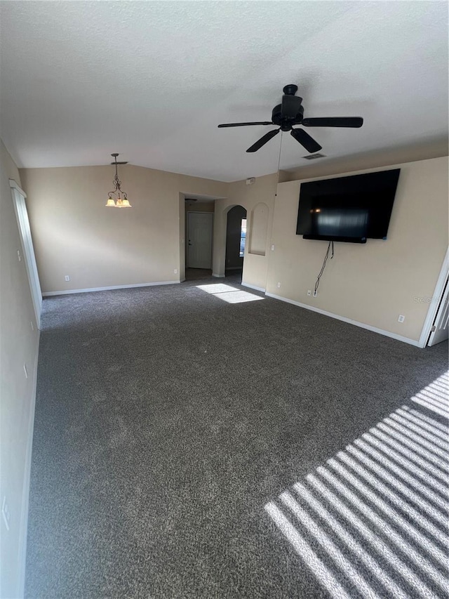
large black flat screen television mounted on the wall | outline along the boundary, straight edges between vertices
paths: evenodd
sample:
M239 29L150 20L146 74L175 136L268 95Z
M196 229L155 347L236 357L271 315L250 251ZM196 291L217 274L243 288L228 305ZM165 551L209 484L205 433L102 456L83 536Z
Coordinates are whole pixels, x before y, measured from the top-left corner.
M359 244L387 239L400 171L302 183L296 235Z

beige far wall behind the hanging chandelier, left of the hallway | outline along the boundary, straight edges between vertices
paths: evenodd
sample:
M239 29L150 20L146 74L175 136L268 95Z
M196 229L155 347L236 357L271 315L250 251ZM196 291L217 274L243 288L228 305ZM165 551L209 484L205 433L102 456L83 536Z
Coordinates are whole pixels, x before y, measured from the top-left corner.
M227 189L226 183L128 164L119 176L133 208L114 209L105 207L112 166L22 169L20 175L43 293L179 282L183 197L222 197Z

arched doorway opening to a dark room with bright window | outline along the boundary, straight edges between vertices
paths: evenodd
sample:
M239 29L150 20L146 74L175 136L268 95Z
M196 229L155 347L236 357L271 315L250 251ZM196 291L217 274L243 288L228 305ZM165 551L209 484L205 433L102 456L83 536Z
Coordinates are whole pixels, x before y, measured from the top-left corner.
M234 206L227 213L225 277L241 283L246 254L246 209Z

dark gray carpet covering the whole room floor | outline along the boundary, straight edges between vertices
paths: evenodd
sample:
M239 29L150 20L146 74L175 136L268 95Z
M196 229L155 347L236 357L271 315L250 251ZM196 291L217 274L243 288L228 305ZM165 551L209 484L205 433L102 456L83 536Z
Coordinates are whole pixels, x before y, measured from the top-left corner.
M447 344L209 283L43 302L26 597L445 596Z

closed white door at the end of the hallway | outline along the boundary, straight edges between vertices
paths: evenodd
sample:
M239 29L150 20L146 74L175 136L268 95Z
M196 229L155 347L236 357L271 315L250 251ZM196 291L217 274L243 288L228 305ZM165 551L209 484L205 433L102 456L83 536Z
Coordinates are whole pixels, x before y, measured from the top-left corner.
M212 212L187 213L187 267L212 268Z

